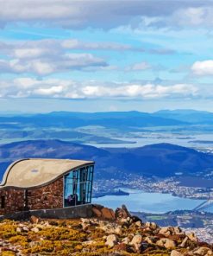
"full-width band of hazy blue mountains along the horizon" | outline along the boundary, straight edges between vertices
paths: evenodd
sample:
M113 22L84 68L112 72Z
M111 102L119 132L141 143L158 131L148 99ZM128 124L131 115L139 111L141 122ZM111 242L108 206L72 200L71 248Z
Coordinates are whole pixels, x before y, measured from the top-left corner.
M128 127L153 127L171 125L211 125L213 112L194 110L163 110L159 112L50 112L44 114L0 113L0 128L22 129L22 127L76 128L101 125L106 128L128 129Z

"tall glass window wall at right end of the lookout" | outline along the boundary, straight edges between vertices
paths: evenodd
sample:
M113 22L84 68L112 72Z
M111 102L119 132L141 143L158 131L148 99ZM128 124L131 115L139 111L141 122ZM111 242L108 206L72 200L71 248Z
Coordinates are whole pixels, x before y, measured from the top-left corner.
M94 166L72 170L64 176L64 206L76 206L91 202Z

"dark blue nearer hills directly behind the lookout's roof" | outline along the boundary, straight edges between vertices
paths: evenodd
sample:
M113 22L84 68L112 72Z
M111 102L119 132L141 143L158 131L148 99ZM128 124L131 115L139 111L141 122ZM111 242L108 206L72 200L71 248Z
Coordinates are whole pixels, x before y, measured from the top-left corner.
M123 175L174 176L213 170L213 155L173 144L151 144L140 148L100 149L60 140L23 141L0 145L0 176L9 163L28 157L94 160L96 178Z

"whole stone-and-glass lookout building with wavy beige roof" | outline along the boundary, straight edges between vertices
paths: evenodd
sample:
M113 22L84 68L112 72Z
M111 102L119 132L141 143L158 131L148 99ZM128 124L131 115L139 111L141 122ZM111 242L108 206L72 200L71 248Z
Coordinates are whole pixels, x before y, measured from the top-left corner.
M49 216L58 211L72 217L77 206L91 203L93 171L92 161L40 158L16 161L9 165L0 184L0 215L35 211Z

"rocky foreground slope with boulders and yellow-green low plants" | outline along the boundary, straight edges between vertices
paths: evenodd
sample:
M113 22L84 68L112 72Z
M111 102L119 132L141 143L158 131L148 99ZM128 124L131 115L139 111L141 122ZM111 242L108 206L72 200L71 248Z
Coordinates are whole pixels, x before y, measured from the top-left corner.
M213 255L213 246L199 242L179 227L158 227L131 216L95 206L96 217L79 220L0 222L0 254L6 255Z

